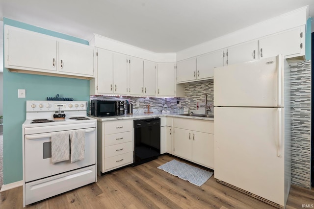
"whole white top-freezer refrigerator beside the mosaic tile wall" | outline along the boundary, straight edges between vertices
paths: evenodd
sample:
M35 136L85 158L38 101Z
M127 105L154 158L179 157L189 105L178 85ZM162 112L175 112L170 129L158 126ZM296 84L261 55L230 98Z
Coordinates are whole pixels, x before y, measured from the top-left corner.
M214 70L214 177L277 208L288 199L290 68L283 55Z

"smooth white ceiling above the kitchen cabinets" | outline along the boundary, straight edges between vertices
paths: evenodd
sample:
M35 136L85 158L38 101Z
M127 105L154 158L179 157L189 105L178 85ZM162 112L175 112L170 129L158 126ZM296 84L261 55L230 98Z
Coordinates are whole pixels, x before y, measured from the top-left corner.
M0 0L0 20L177 52L306 5L314 16L314 0Z

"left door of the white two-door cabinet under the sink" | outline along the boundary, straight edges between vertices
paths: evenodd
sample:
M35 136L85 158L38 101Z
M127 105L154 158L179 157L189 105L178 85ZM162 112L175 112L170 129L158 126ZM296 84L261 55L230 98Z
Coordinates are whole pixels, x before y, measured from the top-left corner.
M192 160L192 132L181 128L174 130L174 154Z

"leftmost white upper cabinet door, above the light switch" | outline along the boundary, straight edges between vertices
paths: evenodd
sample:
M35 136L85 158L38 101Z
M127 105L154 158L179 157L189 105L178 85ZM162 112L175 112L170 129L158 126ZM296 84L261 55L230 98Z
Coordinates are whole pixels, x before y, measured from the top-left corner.
M57 41L36 33L8 29L5 67L11 66L56 71Z

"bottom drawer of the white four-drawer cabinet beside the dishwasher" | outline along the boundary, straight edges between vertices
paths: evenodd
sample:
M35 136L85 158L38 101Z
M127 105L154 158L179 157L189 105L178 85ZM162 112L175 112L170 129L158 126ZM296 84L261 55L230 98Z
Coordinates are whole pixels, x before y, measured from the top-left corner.
M133 152L105 158L105 170L133 163Z

